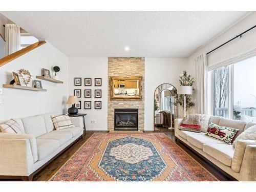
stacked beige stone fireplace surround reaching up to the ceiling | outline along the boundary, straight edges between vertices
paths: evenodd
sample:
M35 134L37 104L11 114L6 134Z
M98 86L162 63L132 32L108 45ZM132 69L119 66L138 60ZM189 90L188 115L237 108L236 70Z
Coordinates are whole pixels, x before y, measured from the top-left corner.
M144 57L109 57L109 98L108 98L108 130L115 129L115 109L137 109L138 129L144 130L144 80L145 80L145 58ZM110 77L134 77L142 76L142 99L141 100L111 100ZM124 123L124 122L123 122ZM128 123L129 124L129 123Z

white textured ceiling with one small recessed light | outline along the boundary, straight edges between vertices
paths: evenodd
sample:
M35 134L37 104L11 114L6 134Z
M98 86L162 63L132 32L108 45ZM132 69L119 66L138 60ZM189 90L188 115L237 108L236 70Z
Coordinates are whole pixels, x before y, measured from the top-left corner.
M2 13L68 57L188 57L248 14L245 11ZM130 50L125 51L125 46Z

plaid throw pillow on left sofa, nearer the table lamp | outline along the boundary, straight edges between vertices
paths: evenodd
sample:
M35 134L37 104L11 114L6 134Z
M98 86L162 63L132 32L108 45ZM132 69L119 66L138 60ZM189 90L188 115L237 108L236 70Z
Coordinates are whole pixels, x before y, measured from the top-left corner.
M51 115L52 122L56 130L74 127L69 115Z

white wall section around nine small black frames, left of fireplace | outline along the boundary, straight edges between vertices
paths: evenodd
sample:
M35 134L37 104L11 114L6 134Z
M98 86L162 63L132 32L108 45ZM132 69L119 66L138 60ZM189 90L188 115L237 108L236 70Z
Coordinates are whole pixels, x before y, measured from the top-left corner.
M82 78L82 86L74 86L74 77ZM92 78L92 87L84 87L84 78ZM94 87L94 78L102 78L102 86ZM69 58L69 95L74 94L74 89L81 89L81 110L78 113L87 113L86 130L108 130L108 58ZM92 90L92 98L84 98L84 90ZM102 98L94 98L94 90L101 89ZM92 101L92 109L84 110L84 101ZM94 101L101 100L101 110L94 109ZM96 120L96 123L91 123Z

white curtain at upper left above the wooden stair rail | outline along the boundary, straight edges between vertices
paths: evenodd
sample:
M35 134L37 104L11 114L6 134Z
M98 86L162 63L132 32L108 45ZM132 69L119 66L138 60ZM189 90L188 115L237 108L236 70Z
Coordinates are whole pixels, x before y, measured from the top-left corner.
M17 25L5 25L5 39L5 55L9 55L20 50L20 28Z

